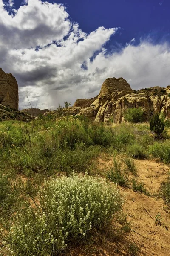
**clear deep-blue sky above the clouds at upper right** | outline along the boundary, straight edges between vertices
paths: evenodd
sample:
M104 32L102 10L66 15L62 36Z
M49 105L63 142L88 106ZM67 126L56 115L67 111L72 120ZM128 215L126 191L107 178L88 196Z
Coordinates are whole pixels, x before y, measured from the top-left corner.
M14 0L19 8L23 0ZM169 0L62 0L48 1L63 3L70 18L79 23L88 33L99 26L120 27L110 44L125 45L131 39L151 36L153 43L170 41Z

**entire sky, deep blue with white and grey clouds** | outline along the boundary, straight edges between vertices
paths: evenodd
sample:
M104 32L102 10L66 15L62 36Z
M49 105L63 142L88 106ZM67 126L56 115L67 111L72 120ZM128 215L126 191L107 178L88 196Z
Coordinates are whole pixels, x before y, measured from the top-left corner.
M20 108L99 93L109 77L133 89L170 84L169 0L0 0L0 66Z

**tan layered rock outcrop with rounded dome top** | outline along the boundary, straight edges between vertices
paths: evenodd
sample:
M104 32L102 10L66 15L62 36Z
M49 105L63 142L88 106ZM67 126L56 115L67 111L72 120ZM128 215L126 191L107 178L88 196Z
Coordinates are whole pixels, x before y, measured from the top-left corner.
M115 123L124 121L127 108L141 107L145 118L153 113L164 113L170 118L170 86L132 90L123 78L108 78L102 84L99 96L92 99L77 99L70 114L86 115L97 122L108 122L112 117Z

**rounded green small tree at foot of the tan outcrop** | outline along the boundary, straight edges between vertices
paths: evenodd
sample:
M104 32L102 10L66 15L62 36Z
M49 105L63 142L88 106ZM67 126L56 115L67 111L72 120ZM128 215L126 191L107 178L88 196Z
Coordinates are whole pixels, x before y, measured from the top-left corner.
M143 111L142 108L128 108L124 113L124 118L126 121L131 123L139 123L143 121Z

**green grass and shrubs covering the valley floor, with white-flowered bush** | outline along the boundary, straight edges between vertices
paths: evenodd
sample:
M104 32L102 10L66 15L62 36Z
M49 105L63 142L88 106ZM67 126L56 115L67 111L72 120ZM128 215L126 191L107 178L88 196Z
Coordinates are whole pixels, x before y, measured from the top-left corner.
M128 111L130 122L119 125L59 111L57 118L0 122L2 255L67 255L78 244L100 244L101 236L121 240L133 230L122 189L162 198L170 205L169 173L154 194L136 164L153 159L170 164L166 122L151 129L142 123L140 108ZM101 168L99 160L108 159L111 165ZM130 242L126 255L140 255L139 251Z

